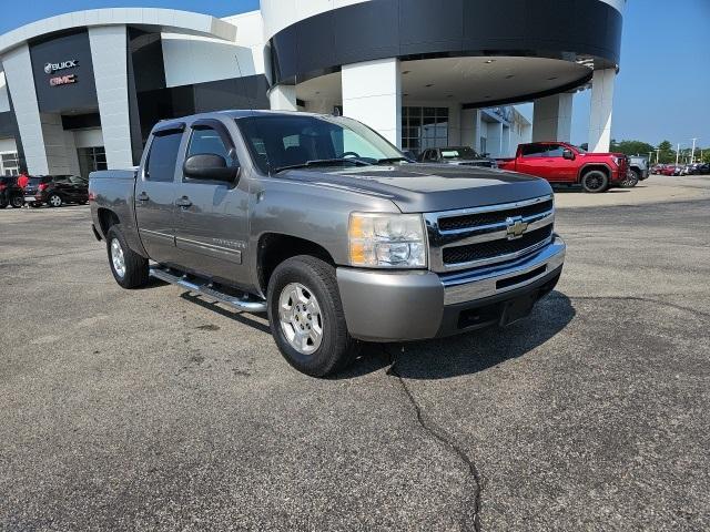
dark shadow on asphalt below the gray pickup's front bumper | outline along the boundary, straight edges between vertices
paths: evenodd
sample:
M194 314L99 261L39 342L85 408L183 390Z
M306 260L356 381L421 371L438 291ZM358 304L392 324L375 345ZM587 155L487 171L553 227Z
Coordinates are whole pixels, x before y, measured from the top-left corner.
M436 380L471 375L518 358L560 332L575 317L571 300L552 291L527 319L450 338L409 344L366 344L361 358L336 378L352 379L392 365L405 379Z

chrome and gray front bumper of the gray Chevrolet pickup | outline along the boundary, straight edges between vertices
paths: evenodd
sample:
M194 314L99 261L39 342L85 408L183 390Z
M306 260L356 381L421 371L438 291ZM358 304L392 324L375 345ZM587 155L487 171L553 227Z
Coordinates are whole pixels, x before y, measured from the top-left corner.
M565 242L519 260L456 274L337 268L349 334L368 341L422 340L499 323L506 305L539 299L562 270Z

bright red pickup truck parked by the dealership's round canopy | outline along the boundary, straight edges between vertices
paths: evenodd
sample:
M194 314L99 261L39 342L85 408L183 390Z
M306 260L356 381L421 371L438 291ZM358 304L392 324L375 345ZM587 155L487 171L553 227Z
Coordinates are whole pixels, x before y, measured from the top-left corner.
M622 153L587 153L565 142L534 142L520 144L515 158L499 158L498 167L552 184L579 183L585 192L605 192L623 183L629 163Z

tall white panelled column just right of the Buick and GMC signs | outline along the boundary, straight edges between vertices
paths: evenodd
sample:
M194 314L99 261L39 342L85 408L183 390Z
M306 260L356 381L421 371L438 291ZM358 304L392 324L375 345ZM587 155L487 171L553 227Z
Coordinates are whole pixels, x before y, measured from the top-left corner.
M103 147L109 168L133 166L125 25L89 28Z

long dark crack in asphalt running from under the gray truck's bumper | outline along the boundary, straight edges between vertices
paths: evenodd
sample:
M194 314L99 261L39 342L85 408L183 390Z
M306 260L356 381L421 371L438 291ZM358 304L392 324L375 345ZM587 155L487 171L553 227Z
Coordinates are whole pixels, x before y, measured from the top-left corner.
M474 460L466 453L466 451L458 446L454 438L446 433L445 430L434 424L432 421L425 419L424 413L422 412L422 407L417 402L414 393L407 386L405 379L397 371L397 357L393 355L386 346L382 346L383 351L387 356L389 360L389 368L387 368L386 374L388 376L393 376L399 382L402 390L404 391L405 397L414 408L417 417L417 422L422 427L422 429L436 439L439 443L450 449L456 457L464 462L466 466L469 480L473 482L474 490L470 494L470 499L473 500L473 512L463 512L462 516L462 530L473 530L475 532L480 532L480 500L485 487L485 481L476 467Z

